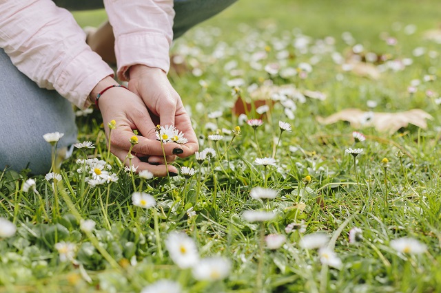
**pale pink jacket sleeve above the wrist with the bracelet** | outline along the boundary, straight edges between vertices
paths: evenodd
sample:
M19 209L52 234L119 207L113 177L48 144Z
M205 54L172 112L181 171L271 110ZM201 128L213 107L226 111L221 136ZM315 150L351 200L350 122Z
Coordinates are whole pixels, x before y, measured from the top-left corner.
M113 70L85 43L72 14L51 0L0 0L0 47L31 80L74 105Z

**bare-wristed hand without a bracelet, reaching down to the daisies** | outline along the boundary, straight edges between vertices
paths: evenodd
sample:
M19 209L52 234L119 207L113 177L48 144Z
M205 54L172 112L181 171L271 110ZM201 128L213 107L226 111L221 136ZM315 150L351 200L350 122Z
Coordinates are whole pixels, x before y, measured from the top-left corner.
M145 65L134 65L130 67L129 89L142 98L152 113L155 124L174 125L184 133L188 142L181 145L183 153L178 154L179 157L187 157L198 150L198 140L192 122L185 111L181 97L170 85L165 72ZM149 162L163 163L163 159L152 156Z

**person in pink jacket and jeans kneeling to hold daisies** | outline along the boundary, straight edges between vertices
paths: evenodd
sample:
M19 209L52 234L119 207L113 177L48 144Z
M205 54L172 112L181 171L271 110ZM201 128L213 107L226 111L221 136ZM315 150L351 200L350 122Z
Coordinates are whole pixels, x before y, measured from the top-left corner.
M77 131L70 103L81 109L95 103L105 126L116 120L112 153L125 161L137 129L132 164L166 175L156 124L174 125L188 140L165 144L167 160L198 150L181 97L167 79L172 39L234 1L105 0L110 23L89 34L87 43L72 14L59 6L96 9L102 1L0 1L0 168L47 173L51 148L43 134L62 132L59 147L71 146ZM118 83L103 59L116 61L116 75L128 81L127 89L112 87ZM169 171L177 175L174 166Z

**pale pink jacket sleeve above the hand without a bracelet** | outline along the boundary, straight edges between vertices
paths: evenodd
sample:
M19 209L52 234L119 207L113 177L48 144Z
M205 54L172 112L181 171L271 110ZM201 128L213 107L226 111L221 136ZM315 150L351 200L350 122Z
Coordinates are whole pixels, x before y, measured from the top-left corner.
M168 72L173 40L173 0L104 0L115 35L118 78L141 64Z

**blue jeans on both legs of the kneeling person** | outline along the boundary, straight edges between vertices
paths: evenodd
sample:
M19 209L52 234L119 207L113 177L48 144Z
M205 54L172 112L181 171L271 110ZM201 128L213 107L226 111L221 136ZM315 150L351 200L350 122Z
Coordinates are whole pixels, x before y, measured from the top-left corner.
M174 38L224 10L236 0L174 0ZM103 1L54 0L69 10L103 8ZM31 169L45 174L50 169L51 147L43 134L63 132L59 148L76 142L72 105L57 91L41 89L12 65L0 49L0 173L8 168Z

